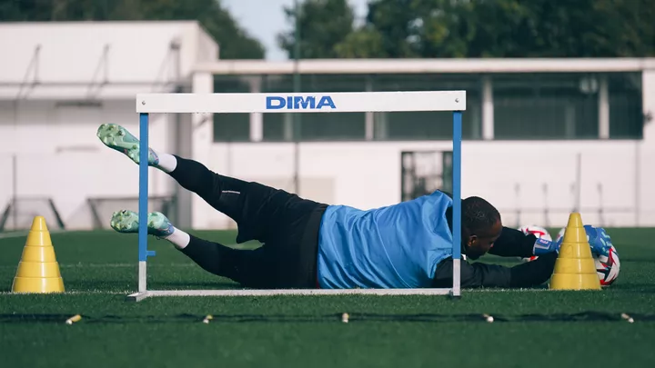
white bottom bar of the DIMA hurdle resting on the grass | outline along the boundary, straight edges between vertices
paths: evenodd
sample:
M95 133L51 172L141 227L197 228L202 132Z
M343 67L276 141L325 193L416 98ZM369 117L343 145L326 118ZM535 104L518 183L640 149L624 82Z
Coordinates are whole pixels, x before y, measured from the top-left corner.
M275 289L275 290L148 290L127 295L130 302L153 296L271 296L271 295L453 295L453 289ZM454 295L459 296L459 295Z

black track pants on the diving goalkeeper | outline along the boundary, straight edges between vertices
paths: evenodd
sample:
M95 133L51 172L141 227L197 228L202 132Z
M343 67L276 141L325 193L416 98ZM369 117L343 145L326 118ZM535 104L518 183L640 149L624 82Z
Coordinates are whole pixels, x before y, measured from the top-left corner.
M193 160L176 159L170 176L236 221L237 243L263 244L256 250L237 250L191 235L184 254L207 272L246 287L316 287L318 230L326 204L216 174Z

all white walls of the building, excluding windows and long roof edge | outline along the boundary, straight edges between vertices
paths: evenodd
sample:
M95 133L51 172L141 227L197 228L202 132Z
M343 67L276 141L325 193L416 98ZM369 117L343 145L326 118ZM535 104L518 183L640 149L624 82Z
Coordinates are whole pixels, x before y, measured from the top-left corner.
M136 164L101 144L96 129L118 123L138 134L134 95L157 90L148 83L175 78L176 61L170 54L174 40L181 46L181 77L192 83L194 92L212 92L211 75L189 75L197 62L211 63L218 54L216 43L194 22L0 25L0 50L11 55L0 59L0 210L14 195L52 197L71 228L86 228L88 197L136 196ZM41 45L38 57L36 45ZM146 84L98 85L105 75L110 82ZM35 79L44 85L18 85ZM54 82L79 85L49 85ZM644 112L655 114L655 71L645 72L642 82ZM61 104L90 97L101 104ZM151 143L192 156L222 174L293 189L292 144L214 144L206 117L188 115L176 126L175 116L154 115ZM608 209L607 225L655 225L655 194L650 190L655 180L650 170L654 126L648 124L638 142L465 142L463 194L488 198L513 223L518 208L544 208L542 188L548 184L548 206L559 213L547 219L523 214L521 223L564 224L574 205L570 189L579 155L583 207L602 204ZM450 143L304 143L300 194L360 208L394 204L400 200L400 153L435 149L449 150ZM175 188L165 174L151 169L151 195L171 194ZM194 227L234 225L196 196L192 204L185 211ZM589 223L600 221L595 211L583 216Z

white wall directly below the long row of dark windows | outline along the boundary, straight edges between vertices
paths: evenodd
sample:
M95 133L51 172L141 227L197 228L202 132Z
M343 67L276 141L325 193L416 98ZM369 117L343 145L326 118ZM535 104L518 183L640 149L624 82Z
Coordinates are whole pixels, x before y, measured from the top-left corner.
M642 85L644 113L655 114L655 72L644 72ZM211 150L196 159L217 172L293 190L293 144L204 144L211 144ZM451 144L302 143L299 147L301 196L373 208L400 200L402 151L449 150ZM645 126L643 140L467 141L463 143L462 194L489 199L509 224L559 226L566 224L576 204L571 188L579 177L585 221L651 226L655 225L655 194L649 189L655 180L649 169L653 160L652 122ZM197 228L234 225L207 204L198 201L196 207L193 224ZM550 209L549 215L543 214L545 208ZM605 214L600 214L601 209Z

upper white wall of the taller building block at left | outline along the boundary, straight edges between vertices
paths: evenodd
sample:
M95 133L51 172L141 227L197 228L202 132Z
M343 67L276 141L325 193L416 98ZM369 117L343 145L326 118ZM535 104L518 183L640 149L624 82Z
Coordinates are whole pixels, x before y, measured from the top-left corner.
M0 50L11 55L0 60L0 99L59 100L163 91L156 83L178 74L189 79L198 62L216 61L218 52L196 22L6 23Z

